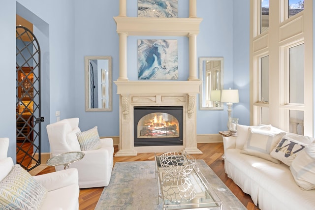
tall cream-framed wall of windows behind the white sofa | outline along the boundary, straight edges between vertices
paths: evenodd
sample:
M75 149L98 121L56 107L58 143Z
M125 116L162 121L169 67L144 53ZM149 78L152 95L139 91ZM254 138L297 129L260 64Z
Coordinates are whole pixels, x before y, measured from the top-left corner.
M250 3L251 124L314 136L314 2Z

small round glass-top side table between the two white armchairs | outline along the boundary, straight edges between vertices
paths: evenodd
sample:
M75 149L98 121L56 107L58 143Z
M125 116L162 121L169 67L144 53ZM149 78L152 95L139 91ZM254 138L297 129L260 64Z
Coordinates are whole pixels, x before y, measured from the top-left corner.
M62 154L57 154L47 160L49 166L64 166L64 169L68 169L71 163L81 160L84 157L82 151L70 151Z

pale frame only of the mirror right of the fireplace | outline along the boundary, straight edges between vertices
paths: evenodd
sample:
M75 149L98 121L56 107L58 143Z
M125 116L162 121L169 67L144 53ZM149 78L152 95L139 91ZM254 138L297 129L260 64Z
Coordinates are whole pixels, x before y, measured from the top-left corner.
M205 75L204 61L221 61L219 88L221 91L223 90L223 70L224 70L223 57L199 57L199 79L202 82L200 86L200 94L199 94L199 110L223 110L223 103L221 101L219 101L218 107L204 106L204 104L206 103L204 100L206 100L206 98L203 97L203 95L206 92L205 88L207 85L206 78L204 78L204 75ZM212 88L209 87L208 90L212 90Z

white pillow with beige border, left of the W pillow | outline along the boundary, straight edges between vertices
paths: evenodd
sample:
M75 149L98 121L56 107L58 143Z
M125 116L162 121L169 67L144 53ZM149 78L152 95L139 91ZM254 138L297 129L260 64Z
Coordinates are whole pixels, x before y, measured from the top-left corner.
M274 163L280 163L279 160L270 156L270 152L277 146L285 132L273 133L255 128L249 128L249 134L241 153L260 157Z

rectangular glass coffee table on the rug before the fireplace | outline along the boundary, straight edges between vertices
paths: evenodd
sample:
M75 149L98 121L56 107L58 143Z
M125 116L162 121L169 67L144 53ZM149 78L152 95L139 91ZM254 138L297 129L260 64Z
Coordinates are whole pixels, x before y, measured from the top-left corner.
M159 160L155 155L158 203L161 199L163 210L222 210L222 201L196 166L186 176L170 176Z

